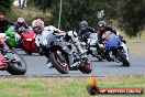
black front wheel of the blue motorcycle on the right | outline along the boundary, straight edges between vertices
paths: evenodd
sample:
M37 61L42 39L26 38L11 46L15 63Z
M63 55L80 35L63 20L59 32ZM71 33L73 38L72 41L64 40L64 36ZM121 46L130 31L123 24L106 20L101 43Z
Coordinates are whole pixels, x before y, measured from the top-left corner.
M119 61L121 61L123 63L123 66L126 66L126 67L130 66L129 61L126 60L124 53L122 53L121 51L118 51L118 58L119 58Z

